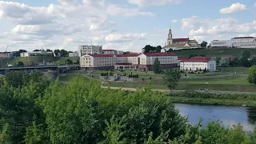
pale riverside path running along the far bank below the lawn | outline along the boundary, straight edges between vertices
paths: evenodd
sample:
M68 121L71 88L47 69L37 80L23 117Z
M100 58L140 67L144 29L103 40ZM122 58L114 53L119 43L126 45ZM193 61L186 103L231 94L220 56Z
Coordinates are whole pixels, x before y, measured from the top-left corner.
M102 86L102 88L109 88L109 86ZM110 86L110 89L121 89L121 90L129 90L129 91L136 91L135 88L127 88L127 87L112 87ZM154 89L153 89L154 90ZM178 93L178 92L185 92L186 90L154 90L154 91L161 91L166 93ZM238 91L218 91L218 90L194 90L199 93L210 93L210 94L256 94L251 92L238 92Z

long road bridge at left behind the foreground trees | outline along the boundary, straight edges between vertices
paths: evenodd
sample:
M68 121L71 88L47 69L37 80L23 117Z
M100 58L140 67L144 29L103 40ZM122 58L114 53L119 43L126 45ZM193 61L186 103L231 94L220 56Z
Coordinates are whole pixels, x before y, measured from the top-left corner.
M6 67L6 68L0 68L0 74L5 74L6 71L10 71L10 70L56 70L58 74L59 73L62 74L62 73L65 73L67 70L79 70L79 69L80 69L79 65Z

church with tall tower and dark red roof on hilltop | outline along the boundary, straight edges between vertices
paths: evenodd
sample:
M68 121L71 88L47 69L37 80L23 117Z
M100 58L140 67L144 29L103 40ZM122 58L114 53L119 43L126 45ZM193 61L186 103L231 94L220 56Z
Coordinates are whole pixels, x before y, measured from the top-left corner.
M170 49L172 50L183 50L183 49L197 49L200 46L198 42L194 40L190 40L190 38L173 38L173 34L171 30L169 30L167 42L162 49L162 52L166 52Z

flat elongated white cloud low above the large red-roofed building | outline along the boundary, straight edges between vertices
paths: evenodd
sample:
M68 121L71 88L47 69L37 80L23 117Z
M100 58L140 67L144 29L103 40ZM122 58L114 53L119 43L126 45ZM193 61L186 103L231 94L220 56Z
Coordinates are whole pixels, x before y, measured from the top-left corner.
M109 34L106 36L106 42L131 42L138 39L145 39L146 33L142 34Z

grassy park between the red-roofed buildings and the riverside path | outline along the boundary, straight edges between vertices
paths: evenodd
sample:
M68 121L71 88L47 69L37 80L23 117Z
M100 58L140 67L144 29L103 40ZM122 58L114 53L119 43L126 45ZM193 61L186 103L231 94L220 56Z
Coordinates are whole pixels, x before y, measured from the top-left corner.
M138 74L139 78L134 82L110 82L111 87L138 88L150 86L154 90L167 90L166 82L162 79L162 74L153 72L138 71L94 71L89 76L98 79L102 73L113 73L118 75ZM184 74L178 82L175 90L199 90L208 89L216 91L238 91L238 92L256 92L256 86L247 82L248 67L218 67L216 72L206 74ZM60 77L60 81L67 81L75 74L86 74L82 71L73 71L66 77Z

